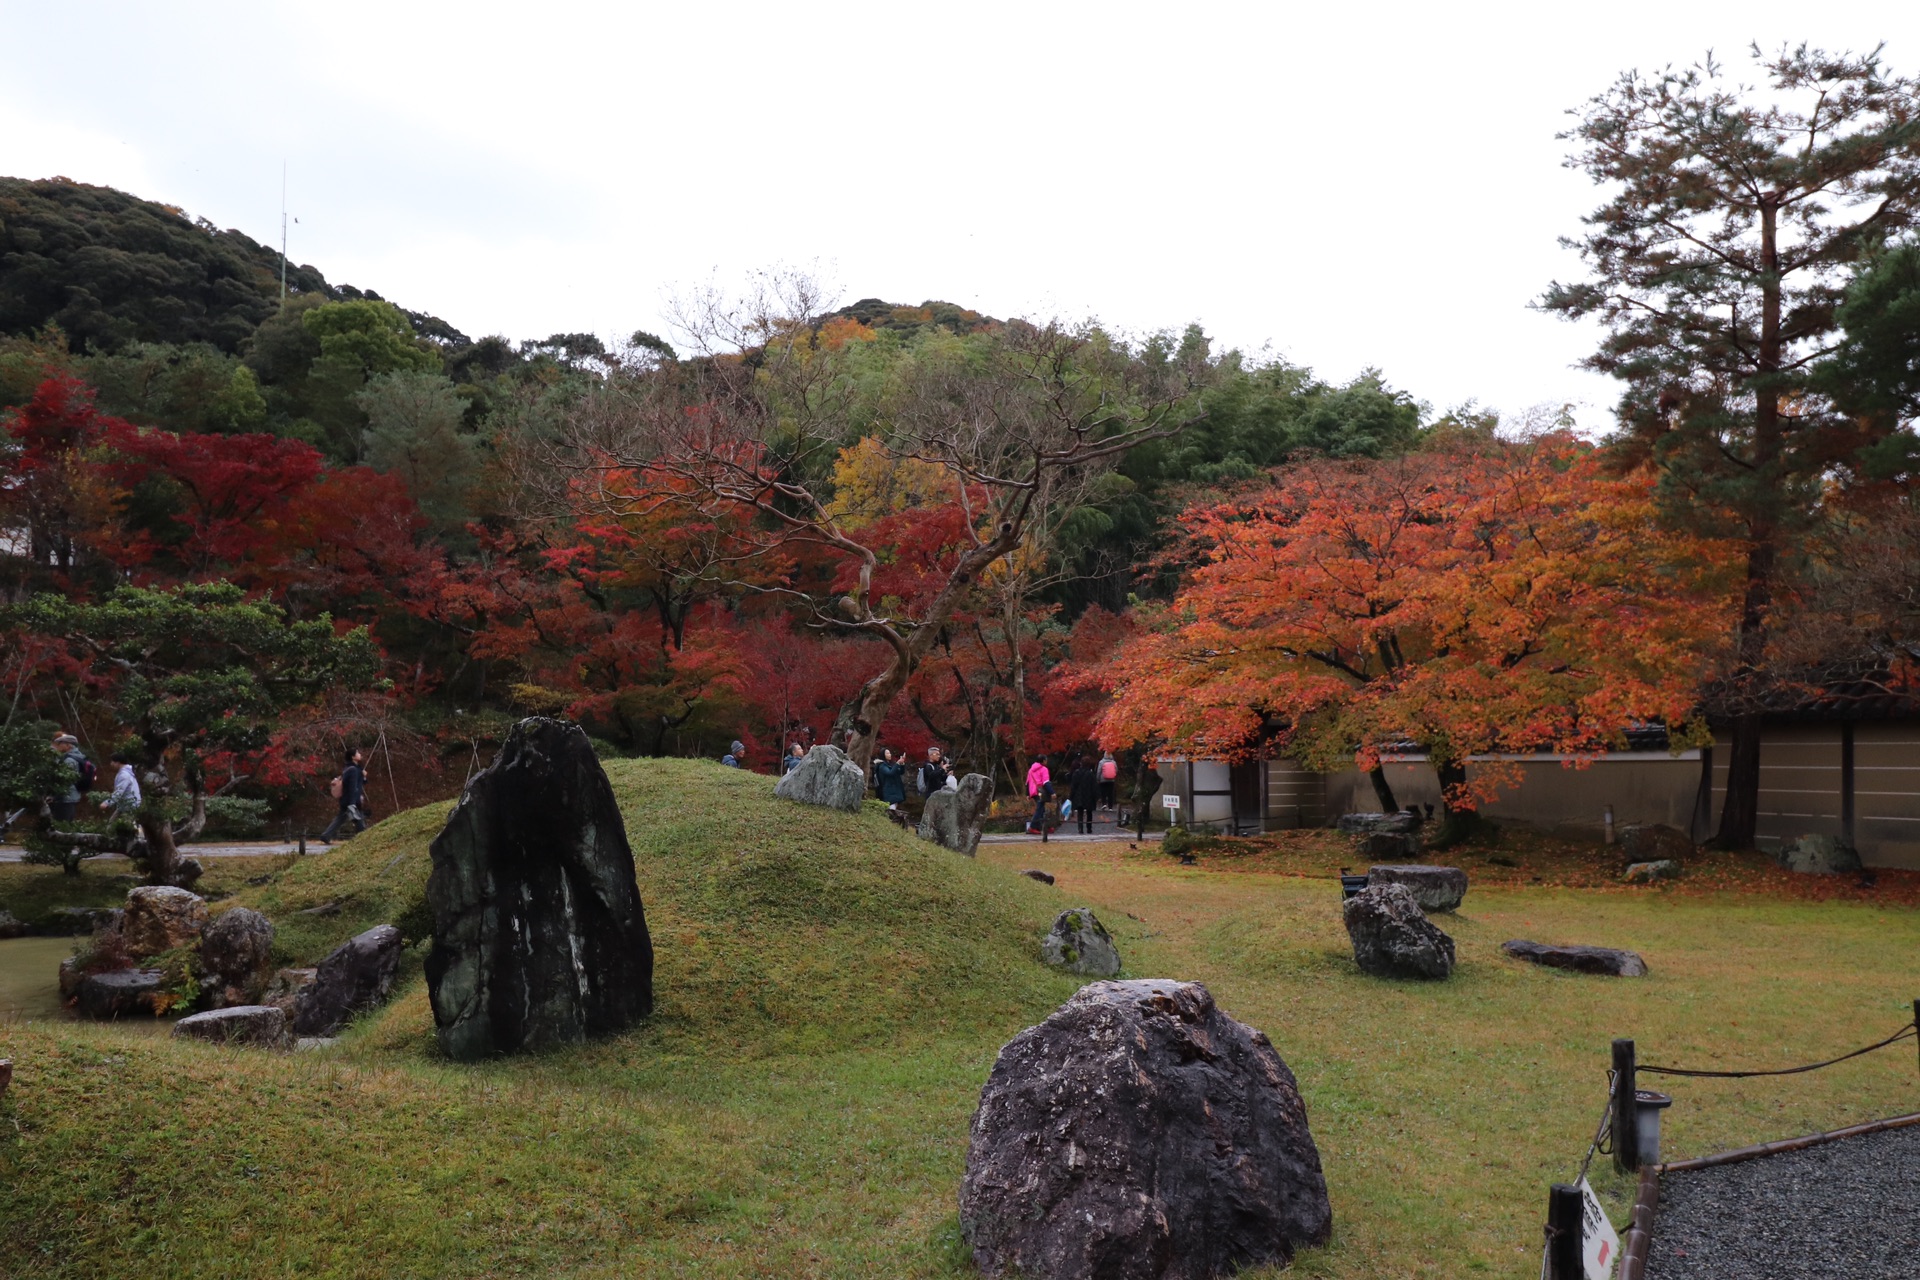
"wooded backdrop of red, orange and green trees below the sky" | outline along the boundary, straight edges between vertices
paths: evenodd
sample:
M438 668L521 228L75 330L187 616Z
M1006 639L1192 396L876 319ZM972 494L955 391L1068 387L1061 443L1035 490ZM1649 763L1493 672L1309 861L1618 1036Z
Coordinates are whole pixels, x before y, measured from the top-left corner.
M1688 94L1722 92L1703 75L1597 98L1582 163L1617 178L1634 111L1684 132ZM1857 117L1899 115L1901 84ZM1872 182L1910 211L1910 171ZM1663 278L1636 217L1596 215L1596 280L1546 305L1605 317L1699 278ZM169 205L4 178L10 725L138 737L196 802L284 800L369 741L447 789L528 712L628 754L741 739L760 768L829 733L862 762L939 743L1002 785L1094 745L1380 783L1379 752L1417 743L1465 812L1475 752L1699 741L1841 676L1907 695L1920 248L1907 213L1849 244L1791 370L1693 368L1620 320L1596 365L1630 388L1624 428L1592 443L1196 328L835 307L785 274L687 301L674 344L472 340L311 267L282 303L276 253ZM1755 462L1743 426L1755 386L1789 384L1780 403L1824 415L1795 426L1818 449L1776 455L1801 472ZM1741 449L1772 487L1724 474ZM230 614L248 635L194 639L207 583L259 604ZM300 629L323 622L371 656ZM250 645L292 654L282 687L240 677ZM194 727L234 716L240 737Z

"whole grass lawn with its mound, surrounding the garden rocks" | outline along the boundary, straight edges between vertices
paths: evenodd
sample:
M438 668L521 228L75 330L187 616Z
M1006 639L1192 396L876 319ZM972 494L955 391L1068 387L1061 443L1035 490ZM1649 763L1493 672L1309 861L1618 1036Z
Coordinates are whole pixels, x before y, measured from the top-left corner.
M970 1274L966 1123L998 1046L1071 994L1037 942L1089 904L1129 975L1208 983L1300 1077L1334 1240L1294 1274L1530 1280L1546 1186L1586 1150L1613 1036L1644 1061L1786 1065L1891 1032L1920 994L1899 877L1843 900L1782 896L1797 887L1740 862L1676 890L1567 887L1605 854L1509 837L1459 854L1475 889L1442 917L1455 977L1382 983L1352 965L1327 877L1348 854L1325 835L1202 850L1198 867L1125 844L968 862L710 764L612 777L659 954L647 1027L455 1067L434 1052L419 952L397 1000L319 1054L4 1027L0 1274ZM419 919L442 818L278 862L232 900L282 923L286 960ZM1014 875L1027 865L1058 887ZM0 867L0 906L36 875ZM1653 973L1530 969L1498 952L1511 936L1630 946ZM1670 1092L1667 1146L1686 1155L1920 1109L1920 1073L1901 1046Z

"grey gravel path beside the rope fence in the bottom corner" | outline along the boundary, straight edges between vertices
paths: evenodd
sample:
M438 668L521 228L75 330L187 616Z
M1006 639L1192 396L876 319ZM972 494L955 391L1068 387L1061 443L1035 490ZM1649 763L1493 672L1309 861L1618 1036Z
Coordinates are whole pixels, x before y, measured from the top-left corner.
M1647 1280L1920 1278L1920 1125L1661 1178Z

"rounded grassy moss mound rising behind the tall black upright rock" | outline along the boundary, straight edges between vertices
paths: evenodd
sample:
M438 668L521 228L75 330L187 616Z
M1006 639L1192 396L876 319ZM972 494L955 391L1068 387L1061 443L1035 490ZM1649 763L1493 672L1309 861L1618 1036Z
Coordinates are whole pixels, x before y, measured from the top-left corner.
M1071 992L1039 963L1060 902L1035 881L879 814L780 800L772 779L710 762L612 760L607 775L653 931L649 1034L662 1048L849 1046L1018 1023ZM424 938L428 844L447 808L397 814L232 902L275 921L286 963L380 923ZM401 998L369 1032L397 1048L430 1031L424 1009Z

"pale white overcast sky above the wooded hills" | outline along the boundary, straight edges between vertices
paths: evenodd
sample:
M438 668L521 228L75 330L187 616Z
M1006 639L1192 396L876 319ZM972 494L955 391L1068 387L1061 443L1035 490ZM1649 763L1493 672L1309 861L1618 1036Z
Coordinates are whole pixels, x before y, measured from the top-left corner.
M1567 107L1920 4L48 4L0 0L0 173L119 186L468 334L664 330L674 288L1198 320L1436 409L1615 391L1528 301L1596 188Z

